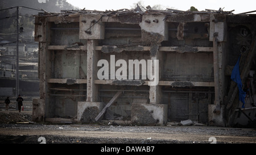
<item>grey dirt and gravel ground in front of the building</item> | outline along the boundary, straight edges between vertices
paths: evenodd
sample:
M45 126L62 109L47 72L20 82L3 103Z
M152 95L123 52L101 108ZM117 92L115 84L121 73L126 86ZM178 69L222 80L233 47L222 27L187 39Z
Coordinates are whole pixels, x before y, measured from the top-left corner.
M255 128L31 122L32 111L0 111L1 144L256 144ZM42 139L42 140L41 140Z

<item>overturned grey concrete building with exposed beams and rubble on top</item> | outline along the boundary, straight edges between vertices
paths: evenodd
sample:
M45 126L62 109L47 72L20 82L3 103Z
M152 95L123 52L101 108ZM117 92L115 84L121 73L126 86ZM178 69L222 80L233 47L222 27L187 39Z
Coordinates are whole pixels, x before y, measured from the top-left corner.
M40 99L33 100L32 118L139 125L253 121L255 19L213 10L40 13ZM240 55L241 79L251 90L243 110L230 79ZM239 120L240 111L246 118Z

